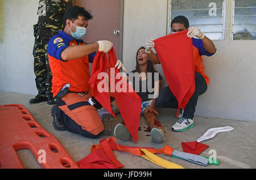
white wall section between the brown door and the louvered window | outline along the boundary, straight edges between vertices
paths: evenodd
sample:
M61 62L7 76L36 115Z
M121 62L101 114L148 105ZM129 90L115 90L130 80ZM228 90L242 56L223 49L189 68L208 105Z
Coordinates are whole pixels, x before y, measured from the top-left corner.
M148 38L166 35L167 0L125 0L123 19L123 63L131 71L136 66L136 53ZM163 76L160 65L155 69ZM163 85L167 85L163 82Z

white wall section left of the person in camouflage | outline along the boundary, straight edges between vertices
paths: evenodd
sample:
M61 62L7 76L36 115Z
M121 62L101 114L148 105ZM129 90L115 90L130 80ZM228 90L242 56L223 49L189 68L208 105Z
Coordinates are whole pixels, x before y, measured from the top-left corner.
M5 1L5 40L0 44L0 91L36 95L33 24L38 1Z

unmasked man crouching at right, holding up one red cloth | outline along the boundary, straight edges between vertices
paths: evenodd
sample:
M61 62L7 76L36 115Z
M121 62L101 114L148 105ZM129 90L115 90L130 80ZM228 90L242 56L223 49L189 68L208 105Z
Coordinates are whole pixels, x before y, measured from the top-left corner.
M177 16L176 18L174 18L171 22L171 28L172 33L189 30L187 36L192 38L193 59L195 65L195 92L189 100L185 109L180 111L179 121L177 121L175 125L172 126L172 131L180 132L186 131L194 126L193 118L196 111L197 100L200 95L203 95L203 93L207 91L209 84L209 78L204 73L203 59L201 56L211 56L215 54L216 47L213 42L207 36L205 36L204 33L201 32L198 28L189 28L189 22L185 16ZM152 61L154 64L159 64L160 61L158 55L151 51L154 46L154 40L147 40L146 52L148 53L150 61ZM155 102L156 105L160 108L178 108L177 99L171 92L170 87L168 86L162 89Z

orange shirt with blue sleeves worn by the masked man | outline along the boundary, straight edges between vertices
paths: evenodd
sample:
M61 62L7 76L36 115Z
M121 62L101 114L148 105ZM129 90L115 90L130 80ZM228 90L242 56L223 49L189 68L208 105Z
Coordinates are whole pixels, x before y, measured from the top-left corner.
M92 63L94 55L92 53L79 59L63 61L61 53L69 46L84 45L82 40L76 41L63 31L52 37L48 44L49 66L52 71L52 93L57 95L65 84L70 84L70 91L86 92L89 91L89 62ZM76 52L74 52L76 53Z

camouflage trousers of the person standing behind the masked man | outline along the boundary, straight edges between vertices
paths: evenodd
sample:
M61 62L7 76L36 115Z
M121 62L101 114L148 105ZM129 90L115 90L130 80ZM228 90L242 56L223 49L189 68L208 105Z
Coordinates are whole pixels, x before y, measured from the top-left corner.
M49 40L35 39L33 49L35 82L40 96L52 96L52 72L47 54L48 42Z

